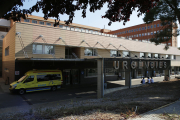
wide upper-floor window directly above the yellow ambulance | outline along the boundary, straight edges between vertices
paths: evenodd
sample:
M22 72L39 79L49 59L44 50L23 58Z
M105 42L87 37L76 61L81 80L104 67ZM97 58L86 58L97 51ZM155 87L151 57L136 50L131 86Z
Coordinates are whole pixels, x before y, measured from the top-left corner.
M54 54L54 46L33 44L33 54Z

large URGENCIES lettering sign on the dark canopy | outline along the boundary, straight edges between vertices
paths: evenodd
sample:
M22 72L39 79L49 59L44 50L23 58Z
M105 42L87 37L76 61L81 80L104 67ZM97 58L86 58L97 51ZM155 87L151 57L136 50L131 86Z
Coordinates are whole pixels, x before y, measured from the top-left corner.
M119 61L113 61L114 69L119 69ZM166 61L122 61L122 69L143 69L143 68L156 68L156 69L166 69L167 62Z

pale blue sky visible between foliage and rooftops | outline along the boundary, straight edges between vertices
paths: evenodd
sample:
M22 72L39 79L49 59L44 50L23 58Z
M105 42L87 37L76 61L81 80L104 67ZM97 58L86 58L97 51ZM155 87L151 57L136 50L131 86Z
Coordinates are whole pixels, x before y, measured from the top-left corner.
M31 6L33 6L36 2L37 2L37 0L25 0L25 2L23 2L24 5L22 8L28 9ZM101 29L105 28L105 29L109 29L109 30L118 30L118 29L122 29L122 28L135 26L135 25L144 23L144 21L143 21L144 15L137 17L137 12L134 11L132 13L132 15L130 16L130 21L128 21L125 25L123 25L123 22L113 22L111 24L111 26L108 26L109 20L102 18L102 16L105 14L105 12L107 10L106 6L107 5L104 5L104 7L101 10L98 10L94 13L87 10L86 18L81 17L82 11L76 11L75 17L73 18L73 23L97 27L97 28L101 28ZM40 17L44 16L42 11L40 11L38 13L34 12L34 13L32 13L32 15L40 16ZM60 15L60 20L61 21L68 20L68 16L65 14ZM180 27L180 26L178 26L178 27ZM180 47L180 37L178 37L178 47Z

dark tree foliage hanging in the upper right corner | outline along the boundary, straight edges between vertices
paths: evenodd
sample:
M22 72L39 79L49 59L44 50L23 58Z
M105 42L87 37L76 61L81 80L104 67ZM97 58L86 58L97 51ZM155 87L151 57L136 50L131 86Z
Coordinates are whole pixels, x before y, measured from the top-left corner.
M169 48L168 41L172 36L178 36L179 30L172 33L172 27L177 28L176 21L180 23L180 8L178 7L178 0L161 0L148 12L144 17L144 22L147 24L159 19L161 20L162 30L156 33L151 42L155 42L156 45L165 42L165 49Z

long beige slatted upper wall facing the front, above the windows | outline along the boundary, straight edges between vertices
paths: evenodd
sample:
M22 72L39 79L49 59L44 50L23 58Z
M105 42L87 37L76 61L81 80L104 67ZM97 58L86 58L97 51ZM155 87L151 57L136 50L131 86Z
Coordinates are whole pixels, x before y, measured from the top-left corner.
M67 46L70 47L80 47L80 58L83 58L84 56L84 48L89 47L87 44L82 43L82 40L85 40L91 47L94 46L95 49L98 49L99 55L104 54L110 51L110 50L116 50L112 45L109 46L109 44L113 44L116 48L119 48L119 50L123 51L133 51L133 52L141 52L144 53L158 53L158 54L174 54L174 55L180 55L180 52L175 47L170 47L167 51L164 50L163 45L154 45L151 43L144 43L139 41L133 41L133 40L127 40L127 39L121 39L121 38L114 38L114 37L108 37L108 36L102 36L102 35L96 35L96 34L90 34L90 33L83 33L83 32L77 32L77 31L71 31L71 30L64 30L57 27L48 27L48 26L40 26L40 25L32 25L28 23L16 23L17 24L17 32L22 32L21 36L22 39L25 40L24 44L26 47L30 46L29 41L36 40L39 35L43 35L45 40L48 44L53 44L59 37L62 38L67 44ZM17 36L16 36L17 38ZM65 44L62 42L62 40L59 40L56 45L62 45ZM17 47L16 47L16 53L20 51L21 46L19 44L19 41L16 41ZM37 43L44 43L42 39L37 39ZM99 42L100 44L97 44ZM120 44L124 47L119 47ZM30 46L32 48L32 46ZM152 49L153 48L153 49ZM106 50L105 50L106 49ZM29 54L32 52L31 49ZM101 50L105 51L101 53ZM110 53L105 55L107 57L110 56ZM62 56L64 57L64 56Z

